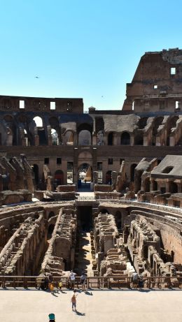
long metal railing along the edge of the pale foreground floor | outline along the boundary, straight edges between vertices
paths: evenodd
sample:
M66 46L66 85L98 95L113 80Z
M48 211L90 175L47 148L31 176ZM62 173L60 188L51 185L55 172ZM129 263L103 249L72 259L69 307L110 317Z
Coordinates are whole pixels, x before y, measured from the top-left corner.
M71 288L68 277L53 277L53 284L58 288ZM47 286L46 286L47 285ZM87 277L86 288L133 288L132 277ZM48 288L44 277L38 276L0 276L1 288ZM80 277L76 277L75 287L81 289ZM143 288L179 288L182 289L182 275L176 277L144 277Z

